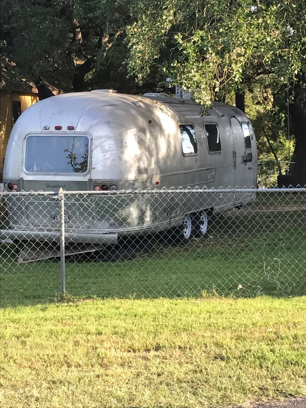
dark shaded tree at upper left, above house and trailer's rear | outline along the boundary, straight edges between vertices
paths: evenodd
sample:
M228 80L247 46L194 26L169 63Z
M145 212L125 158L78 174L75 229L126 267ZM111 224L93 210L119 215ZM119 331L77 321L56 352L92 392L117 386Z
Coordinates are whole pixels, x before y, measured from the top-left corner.
M127 0L3 0L1 55L48 95L42 78L84 91L130 21ZM122 55L124 59L124 54Z

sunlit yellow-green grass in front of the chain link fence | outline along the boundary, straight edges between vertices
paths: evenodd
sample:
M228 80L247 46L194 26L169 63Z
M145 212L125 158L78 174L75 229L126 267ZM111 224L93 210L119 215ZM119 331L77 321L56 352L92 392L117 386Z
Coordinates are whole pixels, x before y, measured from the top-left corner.
M1 407L227 407L306 394L306 297L1 310Z

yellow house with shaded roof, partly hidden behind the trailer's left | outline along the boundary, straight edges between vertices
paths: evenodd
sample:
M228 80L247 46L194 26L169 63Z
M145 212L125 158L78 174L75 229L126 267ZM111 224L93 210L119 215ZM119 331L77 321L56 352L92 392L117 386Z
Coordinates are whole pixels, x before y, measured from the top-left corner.
M10 81L10 88L6 86L10 71L14 64L7 59L1 60L1 83L0 83L0 174L3 174L5 150L9 135L14 123L21 113L29 106L38 102L38 89L32 82L27 82L22 78ZM64 93L51 82L43 80L44 84L51 90L53 95Z

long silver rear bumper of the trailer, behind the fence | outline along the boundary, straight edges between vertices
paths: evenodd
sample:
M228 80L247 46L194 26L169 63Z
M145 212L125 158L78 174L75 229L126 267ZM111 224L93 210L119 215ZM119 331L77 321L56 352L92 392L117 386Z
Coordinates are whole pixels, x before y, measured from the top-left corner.
M28 230L0 230L0 239L18 239L20 241L39 242L60 242L60 233L56 231L28 231ZM116 233L96 234L96 233L65 233L65 243L67 244L100 244L114 245L117 243Z

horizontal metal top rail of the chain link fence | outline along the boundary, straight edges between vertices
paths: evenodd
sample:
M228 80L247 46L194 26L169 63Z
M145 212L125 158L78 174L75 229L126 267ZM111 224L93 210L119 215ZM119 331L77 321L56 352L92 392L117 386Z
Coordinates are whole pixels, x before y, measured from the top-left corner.
M122 195L122 194L166 194L166 193L306 193L306 188L162 188L147 190L116 190L116 191L60 191L61 194L82 194L82 195ZM58 191L6 191L0 193L1 196L14 195L57 195Z

